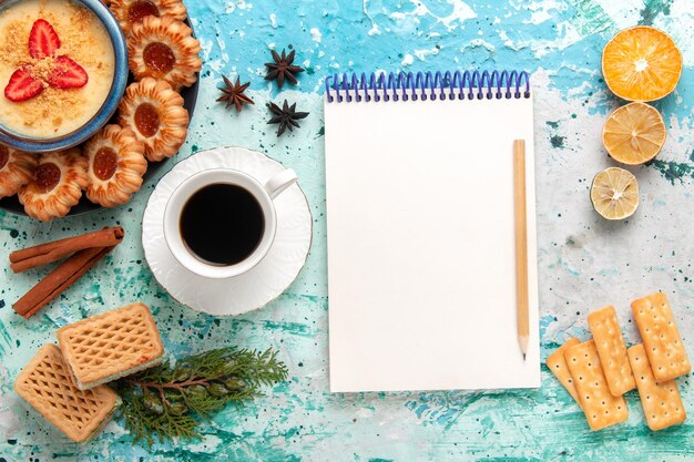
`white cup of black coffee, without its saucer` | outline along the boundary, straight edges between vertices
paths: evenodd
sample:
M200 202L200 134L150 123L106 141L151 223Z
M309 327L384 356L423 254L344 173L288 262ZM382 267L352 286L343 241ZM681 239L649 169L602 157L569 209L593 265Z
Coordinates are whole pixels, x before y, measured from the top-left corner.
M296 179L289 168L265 184L231 168L188 177L164 211L166 245L181 265L200 276L246 273L271 249L277 229L274 199Z

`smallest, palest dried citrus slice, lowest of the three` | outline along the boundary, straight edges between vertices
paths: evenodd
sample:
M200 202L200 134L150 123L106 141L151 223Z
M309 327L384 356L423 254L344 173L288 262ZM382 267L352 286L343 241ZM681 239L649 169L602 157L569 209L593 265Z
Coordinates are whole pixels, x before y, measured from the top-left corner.
M593 178L591 202L595 212L608 219L630 217L639 207L639 182L623 168L605 168Z

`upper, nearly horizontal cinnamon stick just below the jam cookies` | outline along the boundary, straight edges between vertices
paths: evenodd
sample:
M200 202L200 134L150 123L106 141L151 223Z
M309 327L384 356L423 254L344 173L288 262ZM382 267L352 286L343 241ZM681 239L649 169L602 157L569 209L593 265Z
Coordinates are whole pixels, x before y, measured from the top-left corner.
M10 254L10 268L14 273L58 261L86 248L112 247L123 240L125 233L120 226L106 227L81 236L68 237Z

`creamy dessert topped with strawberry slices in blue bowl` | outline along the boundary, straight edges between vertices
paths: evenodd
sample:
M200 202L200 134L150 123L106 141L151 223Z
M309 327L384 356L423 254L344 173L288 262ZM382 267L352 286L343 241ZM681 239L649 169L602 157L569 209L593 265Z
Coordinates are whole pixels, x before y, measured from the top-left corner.
M25 152L82 143L127 81L125 39L100 0L0 2L0 143Z

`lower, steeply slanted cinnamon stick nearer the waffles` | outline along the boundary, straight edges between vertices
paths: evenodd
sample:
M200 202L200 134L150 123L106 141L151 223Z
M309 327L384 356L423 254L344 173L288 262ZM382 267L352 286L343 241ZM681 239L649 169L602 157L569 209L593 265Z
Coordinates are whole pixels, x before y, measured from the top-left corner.
M92 247L78 251L33 286L22 298L17 300L12 308L24 318L30 318L69 288L113 247L115 246Z

